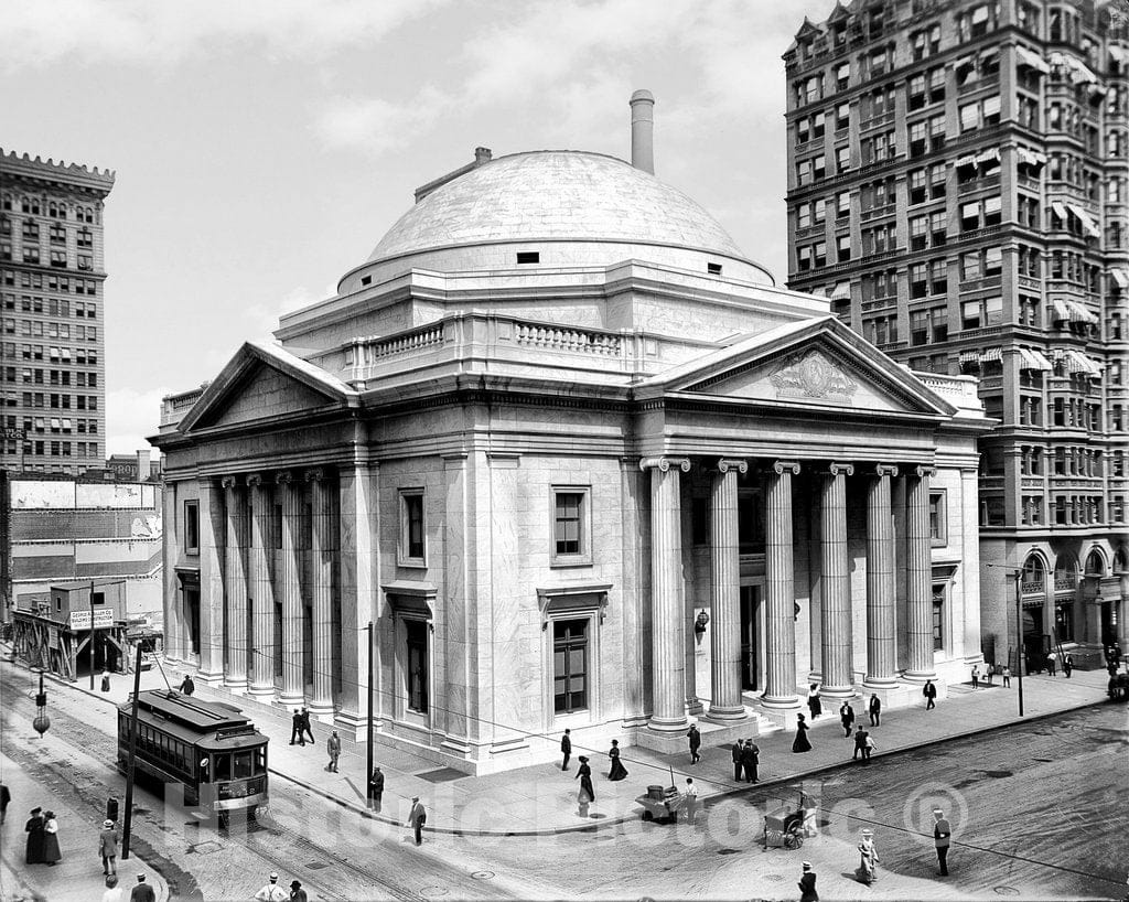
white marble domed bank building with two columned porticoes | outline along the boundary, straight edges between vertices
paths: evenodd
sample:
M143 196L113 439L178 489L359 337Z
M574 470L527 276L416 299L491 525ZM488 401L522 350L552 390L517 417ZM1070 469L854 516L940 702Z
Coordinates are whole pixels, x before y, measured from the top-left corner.
M380 742L467 772L982 660L974 380L776 287L651 174L651 107L632 163L479 148L165 400L170 659L357 736L371 692Z

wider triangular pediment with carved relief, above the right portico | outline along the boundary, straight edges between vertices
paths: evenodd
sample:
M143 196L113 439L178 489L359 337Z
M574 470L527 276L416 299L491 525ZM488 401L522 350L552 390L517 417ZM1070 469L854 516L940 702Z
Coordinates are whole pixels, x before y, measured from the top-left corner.
M834 317L781 326L690 361L655 382L666 393L868 414L952 415L917 377Z

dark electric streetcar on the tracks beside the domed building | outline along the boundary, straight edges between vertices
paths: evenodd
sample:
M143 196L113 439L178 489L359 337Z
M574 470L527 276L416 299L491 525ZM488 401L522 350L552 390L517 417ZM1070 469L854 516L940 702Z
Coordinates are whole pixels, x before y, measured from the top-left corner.
M117 706L117 770L129 767L133 702ZM184 788L184 803L225 820L266 803L268 737L238 708L173 690L138 697L137 772Z

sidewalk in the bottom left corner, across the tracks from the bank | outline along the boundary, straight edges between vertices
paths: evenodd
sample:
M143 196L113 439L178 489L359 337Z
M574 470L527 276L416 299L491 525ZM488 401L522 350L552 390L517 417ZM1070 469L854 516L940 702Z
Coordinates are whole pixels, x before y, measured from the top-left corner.
M106 892L106 878L102 875L102 859L98 857L102 820L94 821L85 812L77 812L67 802L65 787L35 782L5 754L0 754L0 774L11 791L8 820L0 827L0 900L94 902L102 899ZM24 824L28 812L35 807L53 811L59 821L62 860L54 867L24 864L27 846ZM130 855L129 861L117 859L117 885L123 888L123 897L130 897L138 874L146 875L146 883L157 893L157 902L168 899L165 878L135 853Z

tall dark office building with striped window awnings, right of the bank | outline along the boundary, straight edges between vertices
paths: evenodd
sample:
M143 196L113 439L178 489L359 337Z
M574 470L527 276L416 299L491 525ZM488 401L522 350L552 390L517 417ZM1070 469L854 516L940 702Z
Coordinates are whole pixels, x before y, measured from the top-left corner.
M896 0L805 20L789 284L914 370L980 378L984 653L1126 640L1129 17ZM1014 657L1013 657L1014 666Z

